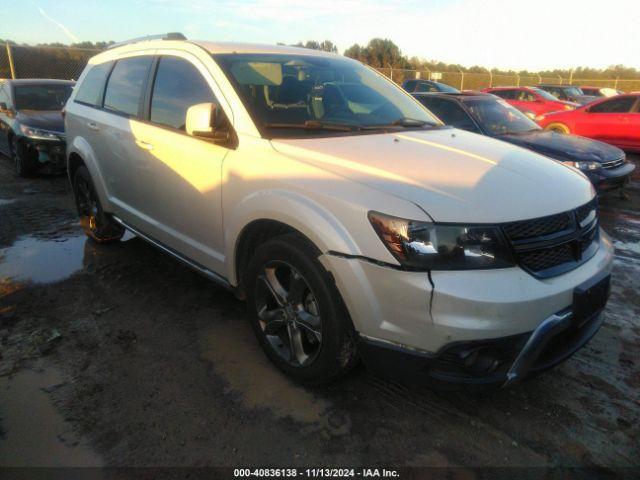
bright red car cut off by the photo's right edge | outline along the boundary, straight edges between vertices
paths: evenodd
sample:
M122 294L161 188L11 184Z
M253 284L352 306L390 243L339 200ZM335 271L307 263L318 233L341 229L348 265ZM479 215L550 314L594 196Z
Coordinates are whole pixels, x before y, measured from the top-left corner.
M640 152L640 94L604 98L570 112L543 115L538 123L547 130L573 133Z

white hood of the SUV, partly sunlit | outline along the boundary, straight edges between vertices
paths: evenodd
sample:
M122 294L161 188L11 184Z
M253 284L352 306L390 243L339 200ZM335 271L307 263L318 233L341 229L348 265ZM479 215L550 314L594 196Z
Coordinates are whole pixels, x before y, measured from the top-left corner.
M498 223L585 204L578 171L453 128L272 141L280 153L403 198L439 222Z

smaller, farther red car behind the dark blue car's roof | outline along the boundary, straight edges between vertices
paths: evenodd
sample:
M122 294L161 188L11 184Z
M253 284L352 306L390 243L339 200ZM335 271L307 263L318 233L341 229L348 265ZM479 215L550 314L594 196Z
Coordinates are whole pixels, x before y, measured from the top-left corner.
M494 87L482 90L504 98L507 103L513 105L532 120L537 120L540 115L562 110L573 110L579 107L577 103L558 100L549 92L536 87Z

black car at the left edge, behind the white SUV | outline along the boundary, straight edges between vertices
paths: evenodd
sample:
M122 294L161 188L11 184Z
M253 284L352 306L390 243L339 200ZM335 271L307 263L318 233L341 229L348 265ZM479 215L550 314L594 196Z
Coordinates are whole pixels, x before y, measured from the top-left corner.
M73 85L40 79L0 83L0 151L13 160L18 176L64 170L62 108Z

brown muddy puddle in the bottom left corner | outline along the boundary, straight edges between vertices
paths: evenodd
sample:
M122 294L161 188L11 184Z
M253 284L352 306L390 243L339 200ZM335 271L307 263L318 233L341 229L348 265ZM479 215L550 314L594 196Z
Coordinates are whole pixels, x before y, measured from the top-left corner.
M96 467L102 458L78 437L47 391L63 382L53 369L0 377L0 465Z

